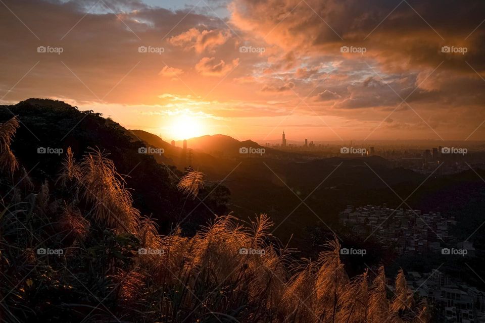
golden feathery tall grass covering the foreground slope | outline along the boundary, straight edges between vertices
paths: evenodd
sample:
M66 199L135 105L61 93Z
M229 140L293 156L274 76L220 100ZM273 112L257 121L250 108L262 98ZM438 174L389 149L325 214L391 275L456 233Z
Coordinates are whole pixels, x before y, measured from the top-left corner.
M202 174L193 172L179 185L192 197L203 189ZM373 279L367 271L350 279L336 239L318 259L296 259L270 242L272 223L264 214L250 223L217 217L192 237L180 229L159 235L99 149L79 164L69 149L59 180L69 200L56 199L47 182L38 192L29 182L21 201L0 212L3 321L429 321L402 271L393 297L383 267ZM39 247L65 253L39 255Z

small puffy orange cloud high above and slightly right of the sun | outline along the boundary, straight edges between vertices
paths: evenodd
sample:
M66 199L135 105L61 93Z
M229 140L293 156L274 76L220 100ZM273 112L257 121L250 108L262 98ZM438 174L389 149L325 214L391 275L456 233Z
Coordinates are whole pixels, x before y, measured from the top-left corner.
M228 30L203 30L196 28L173 36L169 42L174 46L183 47L185 50L195 49L196 52L202 53L206 49L213 52L214 48L223 45L231 37Z

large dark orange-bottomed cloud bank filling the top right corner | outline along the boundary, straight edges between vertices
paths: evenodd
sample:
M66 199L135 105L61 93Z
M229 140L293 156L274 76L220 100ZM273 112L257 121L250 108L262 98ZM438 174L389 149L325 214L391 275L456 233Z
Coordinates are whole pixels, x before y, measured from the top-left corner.
M388 70L404 71L434 68L445 60L445 68L469 72L466 57L475 69L485 69L485 31L475 30L483 20L485 2L429 0L396 5L382 0L237 0L231 6L231 23L285 52L295 52L300 61L307 56L366 57L379 60ZM367 52L343 55L343 45L366 47ZM468 52L449 55L441 52L445 45L467 46Z

